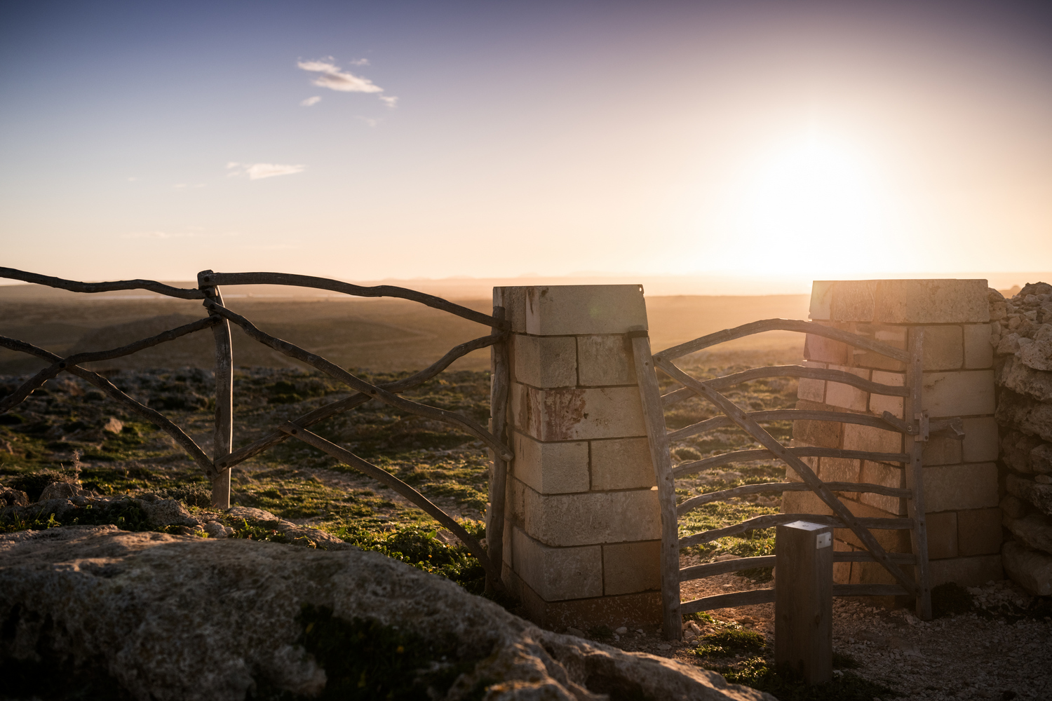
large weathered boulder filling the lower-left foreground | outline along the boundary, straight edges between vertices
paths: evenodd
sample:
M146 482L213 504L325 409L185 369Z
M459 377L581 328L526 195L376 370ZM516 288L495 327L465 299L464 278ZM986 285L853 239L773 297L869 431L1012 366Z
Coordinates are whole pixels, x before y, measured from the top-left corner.
M25 696L773 701L543 631L378 553L112 525L0 536L0 679Z

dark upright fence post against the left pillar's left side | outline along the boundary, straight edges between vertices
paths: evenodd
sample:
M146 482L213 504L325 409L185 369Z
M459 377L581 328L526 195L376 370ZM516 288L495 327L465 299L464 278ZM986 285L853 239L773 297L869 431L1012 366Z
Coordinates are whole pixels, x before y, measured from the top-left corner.
M503 333L505 316L504 307L493 307L493 318L498 325L491 333ZM508 392L510 388L510 369L508 362L508 344L500 343L490 346L490 358L493 375L489 393L489 430L498 440L507 445ZM504 500L508 484L508 463L500 455L493 454L493 474L489 480L489 512L486 524L486 550L493 564L493 572L501 576L504 568ZM486 582L487 590L501 587L500 582Z

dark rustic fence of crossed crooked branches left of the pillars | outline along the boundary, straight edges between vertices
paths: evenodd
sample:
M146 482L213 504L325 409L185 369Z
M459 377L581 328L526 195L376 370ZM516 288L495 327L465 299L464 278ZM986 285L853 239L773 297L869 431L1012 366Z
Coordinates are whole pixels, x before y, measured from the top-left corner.
M493 589L502 589L501 584L501 560L504 529L504 494L507 479L507 465L511 459L511 451L507 447L506 437L506 414L509 376L508 376L508 350L507 324L504 321L504 309L494 307L492 314L468 309L442 297L425 294L417 290L391 285L378 285L375 287L362 287L351 285L336 280L325 277L312 277L308 275L295 275L281 272L213 272L205 270L198 273L197 288L178 288L151 280L122 280L106 283L82 283L60 277L50 277L33 272L16 270L14 268L0 267L0 277L20 280L26 283L46 285L74 292L107 292L113 290L143 289L181 300L201 300L207 310L207 316L186 324L178 328L159 333L148 338L137 341L133 344L113 348L109 350L94 351L86 353L76 353L67 357L60 357L42 348L15 338L0 336L0 347L9 350L28 353L49 365L25 380L14 393L0 399L0 413L9 411L12 408L28 397L33 391L41 387L45 382L55 377L61 372L68 372L95 385L112 399L120 403L125 409L137 414L144 420L157 426L162 431L170 435L176 442L186 451L186 453L200 466L202 472L213 483L213 504L220 509L228 509L230 501L230 469L259 453L272 448L278 444L296 438L315 448L318 448L338 460L363 472L364 474L381 481L401 494L403 497L417 504L443 527L451 531L464 543L464 545L479 558L479 561L486 570L487 584ZM299 346L277 338L264 331L261 331L244 316L229 310L223 304L223 296L220 292L222 286L227 285L294 285L299 287L311 287L316 289L342 292L355 296L366 297L400 297L418 302L420 304L439 309L456 316L466 318L477 324L489 327L489 333L473 341L463 343L450 349L440 359L429 367L404 377L397 382L382 385L372 385L343 368L330 363L321 355L311 353ZM329 377L343 383L355 394L319 407L313 411L275 427L269 434L259 438L248 446L232 450L234 431L234 357L230 348L230 324L241 328L250 338L277 350L288 357L305 363L319 370ZM211 329L216 345L216 420L215 440L213 456L201 449L197 442L186 434L175 422L160 412L146 407L145 405L132 398L113 383L100 375L81 367L85 363L95 360L108 360L124 355L157 346L159 344L175 341L190 333ZM478 425L470 418L461 414L429 407L417 401L412 401L400 396L402 392L421 386L428 379L434 377L440 372L449 367L457 358L467 355L471 351L482 348L491 348L493 353L493 376L491 386L491 430ZM490 479L490 513L489 529L486 541L488 551L471 534L456 521L451 516L442 511L423 494L414 490L409 484L382 470L367 460L355 455L339 446L310 432L308 429L326 418L335 416L345 411L359 407L370 399L382 401L401 411L425 416L434 420L443 421L456 427L458 430L467 433L482 440L493 453L493 474Z

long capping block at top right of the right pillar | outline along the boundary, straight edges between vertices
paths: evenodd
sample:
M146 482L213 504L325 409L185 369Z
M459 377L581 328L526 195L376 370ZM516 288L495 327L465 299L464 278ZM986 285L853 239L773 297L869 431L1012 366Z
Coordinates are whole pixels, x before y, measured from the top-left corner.
M963 324L990 321L985 280L882 280L876 282L874 297L872 321L875 322Z

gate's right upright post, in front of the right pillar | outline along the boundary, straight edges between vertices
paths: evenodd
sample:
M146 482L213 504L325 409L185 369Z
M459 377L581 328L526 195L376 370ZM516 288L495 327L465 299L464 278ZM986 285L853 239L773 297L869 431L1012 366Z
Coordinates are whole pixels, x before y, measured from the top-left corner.
M906 368L906 386L910 388L907 397L905 418L916 427L913 436L905 436L908 444L906 452L910 454L910 465L906 469L906 486L913 496L906 501L906 513L913 519L910 538L916 564L913 568L914 577L920 589L916 599L917 618L931 620L931 580L928 574L928 525L925 519L924 507L924 447L928 440L928 415L920 408L924 390L924 328L909 330L909 367Z

